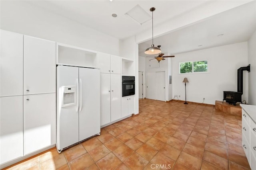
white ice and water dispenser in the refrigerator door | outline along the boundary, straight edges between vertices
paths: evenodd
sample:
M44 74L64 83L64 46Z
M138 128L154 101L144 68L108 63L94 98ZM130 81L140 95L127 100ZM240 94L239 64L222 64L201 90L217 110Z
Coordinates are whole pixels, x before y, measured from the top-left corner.
M76 105L76 86L62 86L62 107Z

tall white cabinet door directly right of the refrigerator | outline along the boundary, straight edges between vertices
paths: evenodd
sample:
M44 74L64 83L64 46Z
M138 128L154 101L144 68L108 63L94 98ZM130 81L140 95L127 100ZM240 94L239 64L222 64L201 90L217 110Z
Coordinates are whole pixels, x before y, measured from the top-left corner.
M100 125L110 123L110 74L100 74Z

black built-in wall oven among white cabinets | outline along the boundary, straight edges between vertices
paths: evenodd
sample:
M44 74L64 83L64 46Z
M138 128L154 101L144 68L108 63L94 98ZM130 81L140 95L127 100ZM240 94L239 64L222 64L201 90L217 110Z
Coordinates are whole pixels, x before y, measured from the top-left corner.
M122 96L131 96L135 94L135 77L122 76Z

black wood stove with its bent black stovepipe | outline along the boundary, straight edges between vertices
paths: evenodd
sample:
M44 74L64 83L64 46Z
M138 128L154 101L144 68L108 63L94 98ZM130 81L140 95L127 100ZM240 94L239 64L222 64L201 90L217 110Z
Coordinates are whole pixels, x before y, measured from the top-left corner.
M237 70L237 92L224 91L223 101L225 100L229 104L236 106L236 102L242 103L243 94L243 71L250 72L250 64L246 67L240 67ZM223 103L223 102L222 102Z

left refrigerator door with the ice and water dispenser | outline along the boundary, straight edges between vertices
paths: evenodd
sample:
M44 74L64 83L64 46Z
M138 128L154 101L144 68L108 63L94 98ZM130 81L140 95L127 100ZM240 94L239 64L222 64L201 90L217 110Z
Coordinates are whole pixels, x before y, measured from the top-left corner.
M69 87L74 91L74 104L66 104ZM59 151L79 142L78 126L78 67L57 66L57 143ZM69 96L66 96L69 97ZM68 101L68 100L67 100ZM73 102L73 101L72 101Z

